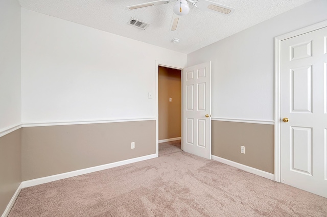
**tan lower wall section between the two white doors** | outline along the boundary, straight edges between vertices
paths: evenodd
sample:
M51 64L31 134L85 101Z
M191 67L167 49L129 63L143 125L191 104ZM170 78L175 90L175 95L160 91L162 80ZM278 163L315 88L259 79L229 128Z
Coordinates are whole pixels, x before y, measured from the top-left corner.
M274 125L212 121L212 154L274 174Z

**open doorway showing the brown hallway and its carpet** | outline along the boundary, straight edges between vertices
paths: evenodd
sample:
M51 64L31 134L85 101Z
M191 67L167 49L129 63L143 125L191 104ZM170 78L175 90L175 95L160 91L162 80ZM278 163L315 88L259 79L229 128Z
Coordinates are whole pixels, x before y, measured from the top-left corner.
M181 150L181 70L158 66L159 156Z

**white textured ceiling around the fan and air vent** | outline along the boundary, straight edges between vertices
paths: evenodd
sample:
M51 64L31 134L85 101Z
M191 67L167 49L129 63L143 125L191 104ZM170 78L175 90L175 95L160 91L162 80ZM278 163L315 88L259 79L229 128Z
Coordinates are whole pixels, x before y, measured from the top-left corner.
M21 7L80 23L170 50L190 53L312 0L211 0L235 8L230 16L194 8L170 31L174 2L136 10L126 6L151 0L18 0ZM203 1L203 0L200 0ZM131 17L150 23L146 30L128 25ZM174 44L173 38L180 42Z

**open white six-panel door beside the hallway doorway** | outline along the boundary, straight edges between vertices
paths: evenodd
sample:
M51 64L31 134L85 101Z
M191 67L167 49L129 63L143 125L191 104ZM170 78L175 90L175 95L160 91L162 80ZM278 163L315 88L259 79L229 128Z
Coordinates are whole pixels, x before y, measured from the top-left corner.
M182 71L183 150L211 159L211 62Z

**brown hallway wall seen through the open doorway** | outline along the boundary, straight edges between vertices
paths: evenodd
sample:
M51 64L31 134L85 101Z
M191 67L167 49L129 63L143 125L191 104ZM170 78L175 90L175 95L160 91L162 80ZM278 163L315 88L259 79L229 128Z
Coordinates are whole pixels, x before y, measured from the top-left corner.
M159 140L181 137L181 71L159 66L158 83Z

